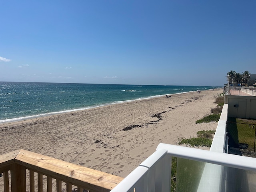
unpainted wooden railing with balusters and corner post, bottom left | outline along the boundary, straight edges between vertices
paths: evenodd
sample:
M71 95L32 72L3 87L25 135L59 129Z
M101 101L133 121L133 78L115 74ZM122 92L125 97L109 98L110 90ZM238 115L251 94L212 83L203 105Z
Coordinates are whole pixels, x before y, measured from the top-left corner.
M57 192L109 192L123 178L83 166L57 160L26 150L17 150L0 155L0 173L3 173L4 192L52 192L53 183ZM37 174L37 177L35 176ZM37 181L37 183L35 182ZM2 190L1 190L2 191Z

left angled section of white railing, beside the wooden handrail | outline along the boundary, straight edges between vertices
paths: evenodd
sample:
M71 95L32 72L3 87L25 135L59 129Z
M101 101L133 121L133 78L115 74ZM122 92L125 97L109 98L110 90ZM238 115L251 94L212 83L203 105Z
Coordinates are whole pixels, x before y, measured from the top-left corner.
M157 192L170 191L170 156L159 149L132 171L111 192Z

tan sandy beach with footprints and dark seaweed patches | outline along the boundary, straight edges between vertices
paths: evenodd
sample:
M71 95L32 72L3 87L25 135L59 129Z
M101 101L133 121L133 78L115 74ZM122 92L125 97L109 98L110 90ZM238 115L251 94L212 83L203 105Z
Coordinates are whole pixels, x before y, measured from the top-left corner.
M0 154L29 150L117 176L127 176L157 145L217 123L210 114L223 90L208 90L113 104L89 110L0 124Z

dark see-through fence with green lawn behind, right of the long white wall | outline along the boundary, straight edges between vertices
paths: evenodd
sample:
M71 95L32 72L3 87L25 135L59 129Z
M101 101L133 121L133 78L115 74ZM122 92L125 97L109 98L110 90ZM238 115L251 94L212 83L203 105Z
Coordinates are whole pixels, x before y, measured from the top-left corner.
M227 122L229 146L255 152L256 124Z

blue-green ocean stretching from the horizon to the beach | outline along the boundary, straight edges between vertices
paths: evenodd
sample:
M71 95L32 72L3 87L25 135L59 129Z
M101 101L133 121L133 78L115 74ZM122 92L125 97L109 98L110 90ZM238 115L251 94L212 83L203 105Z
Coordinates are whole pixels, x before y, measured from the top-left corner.
M213 88L216 87L0 82L0 123Z

